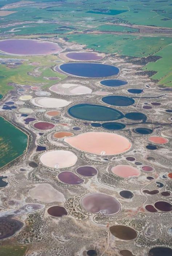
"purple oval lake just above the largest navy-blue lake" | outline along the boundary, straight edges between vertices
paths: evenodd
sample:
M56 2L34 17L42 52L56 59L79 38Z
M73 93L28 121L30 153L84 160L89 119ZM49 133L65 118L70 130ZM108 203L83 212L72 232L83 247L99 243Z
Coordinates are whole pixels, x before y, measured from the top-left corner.
M71 60L81 60L81 61L88 61L88 60L101 60L103 57L98 55L95 52L69 52L65 54L67 58Z

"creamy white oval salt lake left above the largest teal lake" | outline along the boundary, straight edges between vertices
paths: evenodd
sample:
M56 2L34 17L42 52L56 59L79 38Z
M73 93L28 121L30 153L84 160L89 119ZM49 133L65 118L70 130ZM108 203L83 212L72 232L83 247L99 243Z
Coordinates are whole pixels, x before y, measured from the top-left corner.
M69 105L71 102L66 101L65 99L56 99L56 98L34 98L32 99L32 104L38 107L47 107L47 108L58 108L65 107Z

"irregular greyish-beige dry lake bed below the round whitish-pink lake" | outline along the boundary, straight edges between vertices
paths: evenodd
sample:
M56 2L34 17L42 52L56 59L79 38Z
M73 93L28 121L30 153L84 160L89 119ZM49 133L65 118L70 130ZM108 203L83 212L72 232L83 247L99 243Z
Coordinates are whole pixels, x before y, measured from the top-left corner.
M35 184L35 187L29 190L29 195L32 198L37 199L41 202L65 202L64 195L53 188L50 184Z

